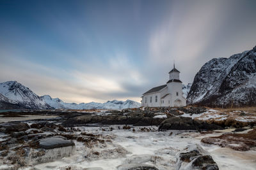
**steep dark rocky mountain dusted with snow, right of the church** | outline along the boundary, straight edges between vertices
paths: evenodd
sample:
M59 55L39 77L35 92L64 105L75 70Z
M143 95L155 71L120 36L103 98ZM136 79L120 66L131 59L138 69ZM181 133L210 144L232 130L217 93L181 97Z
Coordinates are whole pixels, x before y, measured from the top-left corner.
M189 104L205 106L255 106L256 46L205 63L196 73L187 99Z

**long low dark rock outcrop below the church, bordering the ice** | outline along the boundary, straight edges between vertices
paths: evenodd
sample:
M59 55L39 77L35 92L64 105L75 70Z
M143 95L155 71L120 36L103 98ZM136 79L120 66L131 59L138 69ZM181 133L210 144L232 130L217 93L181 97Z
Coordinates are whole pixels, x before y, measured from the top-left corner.
M207 124L206 122L201 122L199 120L193 120L189 117L172 117L164 120L159 125L158 131L167 130L215 130L223 129L222 127L215 124Z

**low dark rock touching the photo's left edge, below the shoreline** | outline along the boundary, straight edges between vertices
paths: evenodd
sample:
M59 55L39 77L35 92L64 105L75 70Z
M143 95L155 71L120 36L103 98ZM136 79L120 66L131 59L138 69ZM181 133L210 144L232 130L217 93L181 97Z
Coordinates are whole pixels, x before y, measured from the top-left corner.
M21 132L26 131L30 127L28 124L20 123L20 122L8 122L0 124L0 131L4 133L12 133L12 132Z

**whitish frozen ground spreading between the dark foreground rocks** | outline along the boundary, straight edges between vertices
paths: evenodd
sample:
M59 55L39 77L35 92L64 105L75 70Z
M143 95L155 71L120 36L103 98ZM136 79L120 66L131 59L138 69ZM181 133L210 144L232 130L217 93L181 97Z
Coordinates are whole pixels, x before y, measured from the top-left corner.
M145 163L156 166L158 169L175 169L175 155L179 150L187 145L198 143L207 150L220 169L255 169L256 150L239 152L230 148L220 148L215 145L205 145L200 139L209 136L219 136L224 132L231 132L234 129L223 130L213 134L200 134L198 132L141 132L140 127L119 130L113 127L113 131L108 131L110 127L79 127L82 132L92 134L104 134L112 136L113 143L104 146L86 148L83 143L76 142L76 150L71 157L64 157L54 162L36 165L36 169L82 169L88 167L101 167L102 169L116 169L125 163ZM147 127L150 128L150 127ZM157 129L157 127L151 127ZM170 135L170 133L172 134ZM112 152L119 148L121 152ZM122 149L121 149L122 148ZM104 152L105 151L105 152ZM127 153L125 153L127 152ZM105 153L101 157L93 156L92 153ZM25 169L29 169L26 167ZM22 168L23 169L23 168Z

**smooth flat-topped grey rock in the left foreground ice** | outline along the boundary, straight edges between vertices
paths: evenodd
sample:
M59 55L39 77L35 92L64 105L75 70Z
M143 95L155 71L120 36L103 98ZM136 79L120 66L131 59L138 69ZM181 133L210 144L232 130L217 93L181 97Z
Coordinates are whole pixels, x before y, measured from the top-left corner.
M39 146L46 150L53 149L53 148L74 146L74 145L75 145L74 142L72 142L70 140L58 138L58 137L57 138L51 137L51 138L40 139L40 141L39 141Z

